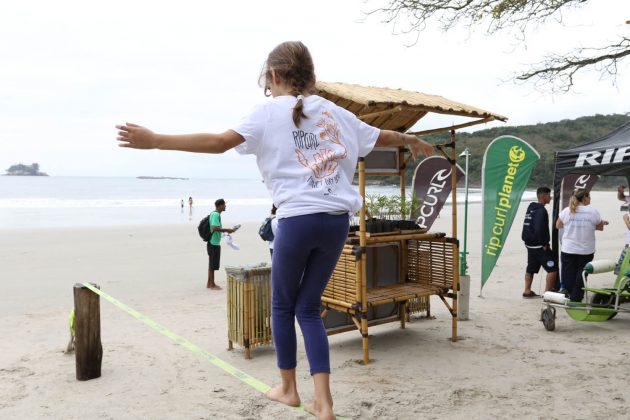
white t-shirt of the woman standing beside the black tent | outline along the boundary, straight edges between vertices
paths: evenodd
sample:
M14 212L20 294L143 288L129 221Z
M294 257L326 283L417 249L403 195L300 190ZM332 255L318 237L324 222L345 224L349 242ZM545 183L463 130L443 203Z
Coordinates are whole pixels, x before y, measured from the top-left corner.
M564 224L562 252L580 255L595 253L595 226L602 221L597 210L579 205L575 213L571 213L566 207L558 217Z

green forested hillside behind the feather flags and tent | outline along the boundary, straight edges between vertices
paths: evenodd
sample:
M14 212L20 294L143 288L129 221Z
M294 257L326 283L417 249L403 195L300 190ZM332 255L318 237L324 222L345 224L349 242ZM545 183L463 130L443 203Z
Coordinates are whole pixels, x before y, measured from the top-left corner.
M630 113L594 115L545 124L505 126L480 130L474 133L458 133L457 152L461 153L465 148L469 149L470 184L478 186L481 185L483 153L488 144L502 135L519 137L531 144L540 153L540 161L532 172L529 187L532 188L538 185L551 186L553 182L553 159L557 150L596 140L629 121ZM428 135L424 138L436 144L448 142L449 136L448 133L440 133ZM408 183L411 182L417 163L412 162L407 168ZM458 158L458 163L463 168L464 158ZM392 181L397 182L393 178ZM612 186L619 182L621 182L619 178L604 177L598 182L597 186Z

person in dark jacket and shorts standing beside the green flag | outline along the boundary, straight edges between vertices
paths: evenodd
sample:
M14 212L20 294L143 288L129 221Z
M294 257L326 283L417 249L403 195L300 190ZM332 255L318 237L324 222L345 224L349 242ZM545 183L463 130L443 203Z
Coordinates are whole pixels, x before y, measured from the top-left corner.
M545 292L554 290L558 276L558 262L549 246L549 214L545 209L545 205L551 202L551 190L540 187L536 190L536 197L538 201L530 203L527 207L521 235L527 248L524 298L538 297L532 290L532 281L541 266L547 272Z

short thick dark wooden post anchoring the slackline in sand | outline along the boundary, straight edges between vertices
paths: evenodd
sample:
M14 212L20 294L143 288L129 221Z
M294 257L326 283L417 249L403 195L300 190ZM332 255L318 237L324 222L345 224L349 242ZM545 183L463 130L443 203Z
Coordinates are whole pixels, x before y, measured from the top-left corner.
M74 285L74 319L77 380L99 378L103 361L100 298L81 283Z

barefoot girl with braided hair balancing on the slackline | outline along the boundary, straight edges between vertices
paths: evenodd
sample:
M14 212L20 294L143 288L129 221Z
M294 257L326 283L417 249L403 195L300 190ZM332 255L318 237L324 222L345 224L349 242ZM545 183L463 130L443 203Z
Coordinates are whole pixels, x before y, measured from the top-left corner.
M256 107L232 130L219 134L156 134L118 125L121 147L224 153L232 148L256 156L258 169L278 206L272 282L272 332L282 383L267 398L301 404L296 384L295 319L315 387L305 408L332 419L328 338L320 317L321 296L348 237L349 215L361 207L352 187L357 160L375 145L409 147L414 158L433 146L416 136L371 127L349 111L312 94L315 70L301 42L274 48L260 77L273 99Z

